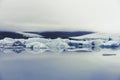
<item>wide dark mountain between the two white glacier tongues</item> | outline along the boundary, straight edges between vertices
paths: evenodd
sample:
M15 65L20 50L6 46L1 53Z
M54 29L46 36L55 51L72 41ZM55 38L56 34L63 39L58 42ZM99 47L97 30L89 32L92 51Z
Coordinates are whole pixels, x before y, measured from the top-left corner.
M27 32L34 33L43 36L44 38L56 39L56 38L69 38L74 36L82 36L86 34L92 34L90 31L45 31L45 32Z

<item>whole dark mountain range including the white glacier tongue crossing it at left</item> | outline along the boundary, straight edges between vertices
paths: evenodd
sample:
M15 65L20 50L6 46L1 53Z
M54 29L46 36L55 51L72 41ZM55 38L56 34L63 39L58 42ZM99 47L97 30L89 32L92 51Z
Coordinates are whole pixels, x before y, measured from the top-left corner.
M5 37L13 38L13 39L28 39L32 37L43 37L43 38L69 38L74 36L82 36L86 34L91 34L94 32L88 31L46 31L46 32L14 32L14 31L0 31L0 39L4 39Z

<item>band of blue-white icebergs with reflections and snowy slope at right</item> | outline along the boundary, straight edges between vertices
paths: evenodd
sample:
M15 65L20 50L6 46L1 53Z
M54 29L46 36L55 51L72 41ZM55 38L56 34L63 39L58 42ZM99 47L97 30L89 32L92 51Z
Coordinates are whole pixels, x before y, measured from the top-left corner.
M89 34L69 39L28 38L0 40L0 50L22 52L25 49L35 52L92 52L101 49L120 49L120 37L105 34Z

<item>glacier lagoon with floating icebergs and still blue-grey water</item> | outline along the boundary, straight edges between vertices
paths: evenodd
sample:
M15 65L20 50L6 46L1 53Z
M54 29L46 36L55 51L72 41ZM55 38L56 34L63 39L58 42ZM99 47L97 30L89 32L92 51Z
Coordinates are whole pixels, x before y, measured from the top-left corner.
M120 37L104 34L4 38L0 80L120 80L119 53Z

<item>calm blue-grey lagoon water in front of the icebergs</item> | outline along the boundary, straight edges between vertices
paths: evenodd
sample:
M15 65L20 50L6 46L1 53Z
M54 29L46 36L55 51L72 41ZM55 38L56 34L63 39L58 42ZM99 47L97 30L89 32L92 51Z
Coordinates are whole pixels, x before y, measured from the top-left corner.
M116 54L104 56L103 54ZM1 53L0 80L120 80L120 51Z

